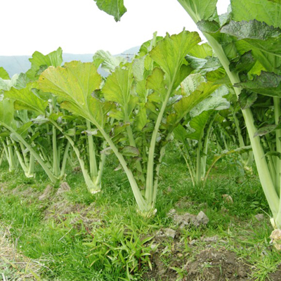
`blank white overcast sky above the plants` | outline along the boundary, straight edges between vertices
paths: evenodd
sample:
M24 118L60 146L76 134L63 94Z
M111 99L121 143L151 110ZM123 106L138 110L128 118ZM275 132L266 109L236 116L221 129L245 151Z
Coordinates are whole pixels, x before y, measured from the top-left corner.
M225 13L230 0L218 0ZM176 0L124 0L120 22L100 11L93 0L1 0L0 55L122 53L152 38L197 27ZM4 28L3 28L4 27Z

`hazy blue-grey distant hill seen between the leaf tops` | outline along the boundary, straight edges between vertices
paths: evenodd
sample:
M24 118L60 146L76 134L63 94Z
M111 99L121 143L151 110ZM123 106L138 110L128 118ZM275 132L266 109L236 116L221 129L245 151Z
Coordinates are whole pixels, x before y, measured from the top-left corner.
M119 55L124 57L131 56L138 53L139 49L140 46L129 48ZM12 77L14 74L27 72L27 70L30 69L30 60L28 60L29 58L31 58L31 55L0 55L0 67L4 67L10 77ZM63 53L64 63L68 63L72 60L81 60L82 63L88 63L93 61L93 54L89 53L81 55L74 53ZM100 74L104 74L102 70L100 70Z

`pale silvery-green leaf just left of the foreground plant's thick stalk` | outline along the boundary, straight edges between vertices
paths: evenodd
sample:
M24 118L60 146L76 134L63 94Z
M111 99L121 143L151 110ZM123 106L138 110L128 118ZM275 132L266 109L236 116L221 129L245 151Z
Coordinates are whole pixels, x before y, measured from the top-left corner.
M209 98L202 100L200 104L193 107L190 111L190 116L195 117L200 115L203 111L208 110L226 110L230 107L230 103L223 96L228 95L229 91L226 86L219 87Z

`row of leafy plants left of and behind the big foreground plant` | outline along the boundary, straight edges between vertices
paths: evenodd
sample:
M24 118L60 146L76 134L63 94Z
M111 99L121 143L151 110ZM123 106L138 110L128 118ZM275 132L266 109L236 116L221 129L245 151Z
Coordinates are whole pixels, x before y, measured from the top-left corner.
M120 163L115 170L123 169L138 208L150 214L167 143L176 139L184 148L192 182L200 184L212 124L226 121L218 112L230 107L228 87L209 81L185 58L208 49L200 41L197 32L185 30L165 38L155 34L131 62L98 51L93 63L61 67L58 48L48 55L35 52L31 69L12 79L1 69L2 159L27 177L34 176L36 162L52 182L65 178L67 164L79 165L95 193L105 157L114 153ZM101 77L98 67L110 75Z

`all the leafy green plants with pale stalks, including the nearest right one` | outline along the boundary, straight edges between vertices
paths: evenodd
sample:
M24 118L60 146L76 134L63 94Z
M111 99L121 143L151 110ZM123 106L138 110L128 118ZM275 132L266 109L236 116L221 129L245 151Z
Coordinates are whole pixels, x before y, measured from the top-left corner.
M101 2L106 5L97 1L98 7L116 20L126 11L115 1ZM150 215L167 143L176 139L198 185L209 174L212 136L226 151L211 167L233 152L249 166L254 155L273 226L280 228L281 3L233 0L228 13L218 15L216 0L179 2L208 43L183 30L164 38L154 34L131 62L99 51L92 63L62 67L58 48L35 52L31 69L12 79L1 69L1 161L5 157L10 170L21 166L27 177L36 162L52 182L65 177L67 163L79 164L94 193L101 188L105 156L113 153L138 209ZM110 75L101 77L99 67Z

